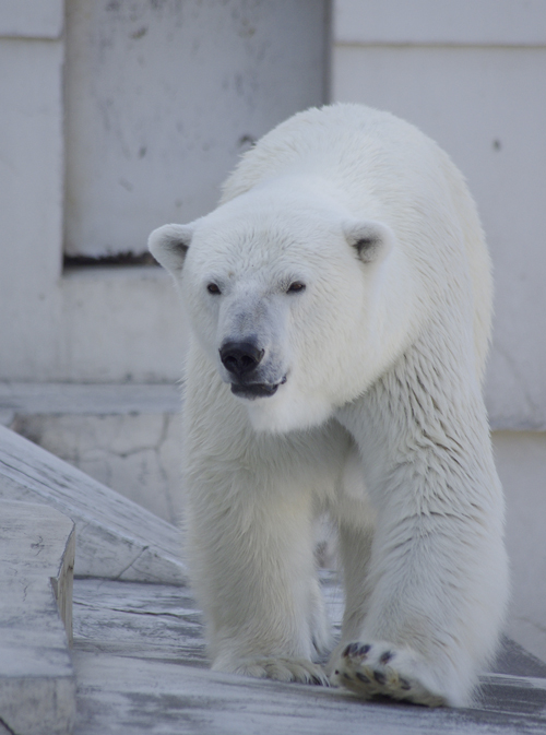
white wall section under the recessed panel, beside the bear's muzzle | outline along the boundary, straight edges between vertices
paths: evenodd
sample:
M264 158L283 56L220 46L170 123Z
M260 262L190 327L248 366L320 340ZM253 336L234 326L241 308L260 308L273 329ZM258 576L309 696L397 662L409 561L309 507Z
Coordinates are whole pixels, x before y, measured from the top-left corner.
M180 379L187 327L163 269L79 269L64 274L60 295L60 365L45 379L95 383ZM15 378L32 380L21 363L23 375L16 372Z

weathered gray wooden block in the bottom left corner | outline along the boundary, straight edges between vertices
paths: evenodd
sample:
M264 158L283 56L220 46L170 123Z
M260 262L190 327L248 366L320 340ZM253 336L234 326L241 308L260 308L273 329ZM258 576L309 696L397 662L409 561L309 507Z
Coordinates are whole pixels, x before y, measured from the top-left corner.
M73 730L73 564L74 523L67 515L0 501L0 723L7 732Z

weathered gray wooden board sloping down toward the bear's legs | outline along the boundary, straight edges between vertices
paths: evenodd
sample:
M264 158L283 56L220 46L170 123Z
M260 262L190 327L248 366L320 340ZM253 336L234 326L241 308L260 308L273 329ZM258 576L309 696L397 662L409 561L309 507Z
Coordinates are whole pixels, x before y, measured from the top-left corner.
M75 521L76 576L186 582L175 526L2 426L0 497L44 502Z

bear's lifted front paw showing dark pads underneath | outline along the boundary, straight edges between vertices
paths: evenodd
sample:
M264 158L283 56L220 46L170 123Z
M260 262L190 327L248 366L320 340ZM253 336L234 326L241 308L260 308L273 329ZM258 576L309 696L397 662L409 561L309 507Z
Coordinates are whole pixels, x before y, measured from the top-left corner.
M354 641L337 656L331 680L365 699L382 696L427 707L447 704L423 684L416 659L417 654L387 642Z

